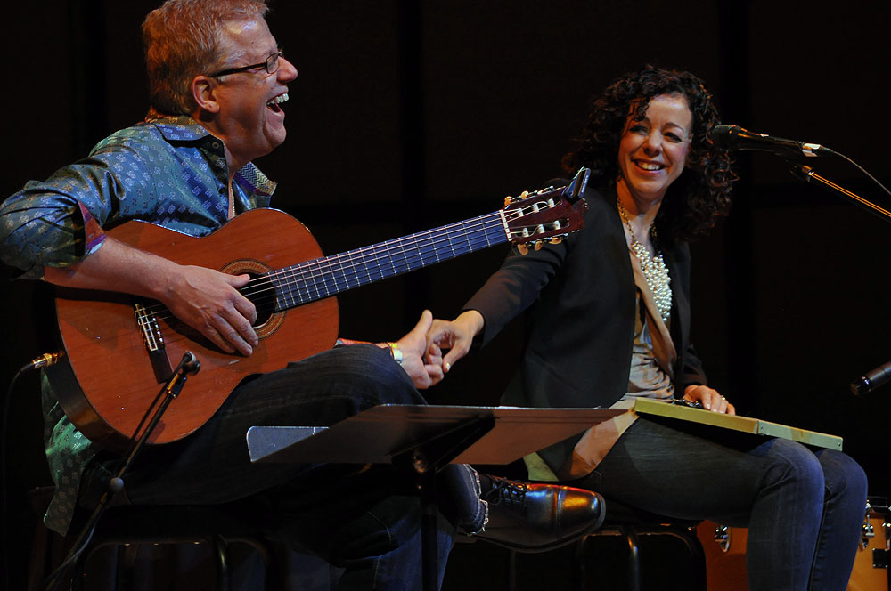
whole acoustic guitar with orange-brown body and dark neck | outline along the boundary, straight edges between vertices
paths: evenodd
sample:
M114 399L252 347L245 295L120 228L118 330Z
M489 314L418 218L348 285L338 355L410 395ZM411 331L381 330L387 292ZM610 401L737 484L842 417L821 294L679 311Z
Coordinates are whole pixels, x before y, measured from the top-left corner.
M65 354L53 371L62 409L91 441L126 449L136 426L185 352L200 372L171 404L150 443L176 441L203 425L242 379L331 348L336 295L504 243L557 240L584 225L587 170L567 187L536 191L503 209L459 223L323 256L307 228L274 209L238 215L207 237L127 222L115 239L176 263L251 280L241 293L257 307L259 344L248 357L226 353L168 309L135 296L78 289L56 292Z

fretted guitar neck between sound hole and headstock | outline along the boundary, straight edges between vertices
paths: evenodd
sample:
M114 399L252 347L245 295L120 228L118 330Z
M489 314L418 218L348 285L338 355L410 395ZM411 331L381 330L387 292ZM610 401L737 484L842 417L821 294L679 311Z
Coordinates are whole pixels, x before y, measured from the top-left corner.
M503 215L494 212L270 271L263 279L272 282L275 312L281 312L507 241Z

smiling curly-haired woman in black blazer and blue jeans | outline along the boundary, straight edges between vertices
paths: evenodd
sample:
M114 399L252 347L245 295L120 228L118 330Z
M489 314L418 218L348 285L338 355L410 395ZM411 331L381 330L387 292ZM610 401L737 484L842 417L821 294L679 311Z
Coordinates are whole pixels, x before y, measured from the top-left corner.
M584 230L508 256L464 312L435 322L428 338L450 349L444 369L528 312L503 404L628 409L647 398L735 414L691 344L687 239L726 214L734 178L709 139L718 121L689 72L648 67L610 85L566 158L569 170L592 169ZM668 518L748 525L753 589L840 591L854 563L866 479L832 449L767 438L730 445L632 415L525 460L533 480L596 490L607 506L615 498Z

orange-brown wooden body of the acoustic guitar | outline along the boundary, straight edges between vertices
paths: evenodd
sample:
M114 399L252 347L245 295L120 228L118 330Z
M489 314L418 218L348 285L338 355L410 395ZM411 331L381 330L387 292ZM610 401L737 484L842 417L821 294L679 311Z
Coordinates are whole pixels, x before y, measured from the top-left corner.
M302 223L274 209L238 215L204 238L143 222L128 222L108 233L176 263L232 274L258 275L322 256ZM79 386L59 389L61 407L91 441L113 449L124 449L164 382L135 320L138 301L134 296L73 289L59 290L56 298L67 367L50 369L73 377ZM156 316L163 339L160 355L166 356L170 368L176 368L184 353L191 351L201 368L189 376L180 396L170 404L151 434L151 443L176 441L192 433L242 379L331 348L339 329L333 296L267 314L255 327L259 344L252 355L243 357L222 352L164 312Z

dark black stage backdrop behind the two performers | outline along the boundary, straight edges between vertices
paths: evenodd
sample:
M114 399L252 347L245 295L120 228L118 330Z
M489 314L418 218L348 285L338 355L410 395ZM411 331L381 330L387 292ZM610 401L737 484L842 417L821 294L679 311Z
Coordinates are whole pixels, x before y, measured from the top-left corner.
M6 7L4 195L143 117L139 25L156 4ZM880 4L279 0L271 27L299 77L284 106L290 137L258 164L280 183L274 205L326 253L395 238L494 211L559 174L589 98L650 62L703 77L725 122L823 143L888 184L891 7ZM693 246L694 342L712 385L745 414L844 436L871 494L887 495L891 388L856 399L847 384L891 359L891 226L798 182L781 158L738 164L732 216ZM882 200L854 167L812 164ZM393 339L424 308L451 318L503 255L341 296L340 333ZM47 350L53 323L43 291L4 271L5 385ZM519 335L462 361L431 400L495 403ZM4 433L12 588L29 551L25 492L48 482L41 425L37 379L25 376Z

